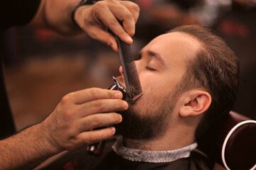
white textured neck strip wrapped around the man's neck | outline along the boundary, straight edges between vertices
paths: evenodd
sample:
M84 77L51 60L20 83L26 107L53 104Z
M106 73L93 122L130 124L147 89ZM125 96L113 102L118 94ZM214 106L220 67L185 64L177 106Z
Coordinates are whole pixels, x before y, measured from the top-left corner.
M133 162L149 163L174 162L177 159L187 158L189 157L191 151L196 147L197 143L194 142L191 145L182 147L180 149L167 151L144 151L124 147L122 137L117 137L116 142L112 146L113 151L124 159L128 159Z

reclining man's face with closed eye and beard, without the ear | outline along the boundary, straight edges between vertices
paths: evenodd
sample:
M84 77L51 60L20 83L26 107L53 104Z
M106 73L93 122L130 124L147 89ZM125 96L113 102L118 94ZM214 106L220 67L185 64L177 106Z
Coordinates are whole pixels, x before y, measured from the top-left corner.
M146 45L135 61L143 89L143 97L122 113L123 123L117 132L124 137L143 140L164 135L178 116L176 86L186 74L186 61L199 47L184 33L160 35ZM123 71L118 81L125 86Z

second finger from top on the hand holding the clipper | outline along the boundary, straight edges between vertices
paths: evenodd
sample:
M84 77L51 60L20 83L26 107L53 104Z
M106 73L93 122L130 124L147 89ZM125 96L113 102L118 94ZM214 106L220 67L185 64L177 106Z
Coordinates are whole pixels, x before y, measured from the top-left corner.
M125 111L127 108L128 103L120 99L99 99L82 104L79 112L80 117L84 117L94 113Z

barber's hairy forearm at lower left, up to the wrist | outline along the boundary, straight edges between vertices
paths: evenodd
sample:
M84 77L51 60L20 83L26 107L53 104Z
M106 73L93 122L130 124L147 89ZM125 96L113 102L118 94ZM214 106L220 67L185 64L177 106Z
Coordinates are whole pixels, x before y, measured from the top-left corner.
M44 135L43 123L0 141L0 169L33 169L58 151Z

